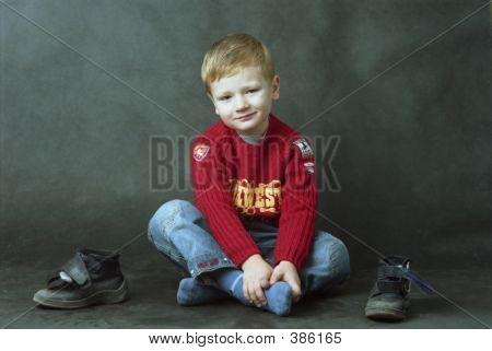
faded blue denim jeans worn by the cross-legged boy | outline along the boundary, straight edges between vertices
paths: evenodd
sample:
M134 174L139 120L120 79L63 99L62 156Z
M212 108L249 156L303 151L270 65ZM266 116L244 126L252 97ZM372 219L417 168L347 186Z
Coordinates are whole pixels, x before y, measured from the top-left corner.
M278 227L261 221L247 221L246 231L272 265ZM148 236L159 251L197 279L200 274L222 268L236 268L210 234L201 212L184 200L172 200L155 212L149 223ZM300 272L302 293L324 293L340 285L350 274L345 245L331 234L316 232L312 250Z

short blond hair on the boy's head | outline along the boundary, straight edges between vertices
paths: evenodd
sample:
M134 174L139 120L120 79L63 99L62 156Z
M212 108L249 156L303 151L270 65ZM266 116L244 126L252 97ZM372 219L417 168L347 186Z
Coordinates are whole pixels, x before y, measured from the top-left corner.
M248 34L229 34L213 43L203 58L201 80L209 95L210 84L236 74L246 67L258 67L270 82L274 75L273 60L268 48Z

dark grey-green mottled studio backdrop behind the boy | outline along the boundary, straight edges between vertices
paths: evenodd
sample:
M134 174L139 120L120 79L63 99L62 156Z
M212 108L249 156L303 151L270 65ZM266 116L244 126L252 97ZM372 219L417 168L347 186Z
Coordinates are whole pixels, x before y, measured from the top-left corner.
M191 198L180 142L216 121L203 54L246 32L276 59L273 112L320 140L317 226L355 266L376 260L359 241L490 265L490 9L445 32L484 2L2 0L2 262L128 243L152 257L153 211Z

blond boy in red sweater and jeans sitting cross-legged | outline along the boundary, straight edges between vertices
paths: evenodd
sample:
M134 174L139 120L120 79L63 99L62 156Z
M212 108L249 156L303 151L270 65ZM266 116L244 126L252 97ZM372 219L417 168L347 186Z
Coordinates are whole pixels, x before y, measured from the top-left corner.
M149 238L191 276L179 283L179 304L232 295L286 316L301 296L350 271L343 243L315 233L313 150L271 113L280 79L256 38L231 34L213 44L201 77L220 121L191 144L196 206L164 203Z

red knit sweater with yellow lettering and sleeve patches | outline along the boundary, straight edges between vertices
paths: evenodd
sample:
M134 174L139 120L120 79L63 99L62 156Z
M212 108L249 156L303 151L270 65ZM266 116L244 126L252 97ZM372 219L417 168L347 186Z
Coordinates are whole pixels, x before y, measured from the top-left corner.
M313 242L317 201L306 139L273 114L260 145L219 121L195 139L190 160L196 206L234 264L241 268L261 255L243 221L262 218L279 226L274 266L288 260L300 271Z

